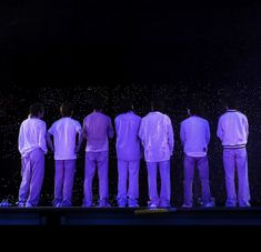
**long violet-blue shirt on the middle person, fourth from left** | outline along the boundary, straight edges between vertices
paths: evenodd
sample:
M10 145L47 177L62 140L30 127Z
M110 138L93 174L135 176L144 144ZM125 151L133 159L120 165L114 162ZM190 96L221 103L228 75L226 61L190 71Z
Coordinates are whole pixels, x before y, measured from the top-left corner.
M134 161L141 158L139 129L141 118L134 112L119 114L116 120L117 158L124 161Z

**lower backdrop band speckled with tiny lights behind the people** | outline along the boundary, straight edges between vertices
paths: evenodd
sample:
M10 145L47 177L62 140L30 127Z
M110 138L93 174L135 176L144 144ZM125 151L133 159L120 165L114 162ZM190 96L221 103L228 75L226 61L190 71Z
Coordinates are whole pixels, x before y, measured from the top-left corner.
M143 82L142 82L143 83ZM6 90L7 91L7 90ZM260 125L260 107L261 85L250 88L245 83L238 82L230 88L217 87L211 83L199 83L189 87L185 83L165 83L141 84L131 83L129 85L110 85L102 83L97 85L87 85L72 83L69 87L48 85L38 87L36 89L23 89L12 85L6 93L1 95L1 114L0 114L0 141L1 141L1 184L0 194L2 198L17 196L20 183L20 160L17 150L17 138L19 124L28 115L28 105L32 101L42 101L47 107L44 120L48 127L59 119L59 105L62 101L71 100L76 104L74 118L82 122L86 114L91 112L90 99L93 94L99 93L106 103L104 112L112 120L121 111L120 103L122 99L130 97L134 100L135 111L143 117L149 112L149 100L158 97L163 101L163 112L170 115L175 138L174 157L171 160L171 178L172 178L172 201L174 204L182 202L182 148L179 139L180 122L187 117L187 104L191 99L198 99L203 107L203 117L210 121L211 143L209 148L210 161L210 181L213 196L218 204L224 201L224 175L222 167L222 149L218 138L215 137L217 123L219 115L223 112L222 98L227 92L234 92L234 95L241 101L240 110L249 118L250 137L249 137L249 177L252 200L254 203L261 202L261 125ZM84 148L79 154L77 175L74 183L74 204L80 205L82 200L83 187L83 157ZM42 204L50 204L53 193L53 158L47 155L46 179L42 191ZM117 159L114 150L114 139L110 142L110 198L112 203L117 194ZM141 163L140 170L140 193L141 204L145 204L147 193L147 171L144 162ZM195 196L200 196L200 184L197 175ZM98 182L94 183L94 192L98 194ZM13 199L14 200L14 199Z

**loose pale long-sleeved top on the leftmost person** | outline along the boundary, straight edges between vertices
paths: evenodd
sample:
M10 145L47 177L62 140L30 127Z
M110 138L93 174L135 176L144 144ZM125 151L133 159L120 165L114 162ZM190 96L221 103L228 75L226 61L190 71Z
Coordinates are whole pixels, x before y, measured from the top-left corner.
M18 139L18 149L22 158L40 148L47 153L47 124L38 118L28 118L21 123Z

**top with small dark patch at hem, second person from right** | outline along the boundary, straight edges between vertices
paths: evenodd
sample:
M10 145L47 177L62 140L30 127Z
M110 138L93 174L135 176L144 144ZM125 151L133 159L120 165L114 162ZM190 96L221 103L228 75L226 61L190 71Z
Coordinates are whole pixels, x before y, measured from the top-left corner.
M180 127L180 139L187 155L205 157L210 141L209 122L195 115L183 120Z

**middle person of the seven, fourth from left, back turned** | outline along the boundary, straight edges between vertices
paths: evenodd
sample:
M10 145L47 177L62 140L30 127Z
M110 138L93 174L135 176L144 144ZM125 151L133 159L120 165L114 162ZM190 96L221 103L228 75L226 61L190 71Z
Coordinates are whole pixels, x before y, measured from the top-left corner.
M139 198L139 169L141 159L141 143L139 129L141 118L133 112L130 100L124 100L126 112L119 114L116 122L117 158L118 158L118 205L138 208ZM129 177L129 190L127 182ZM127 199L128 198L128 199ZM128 202L127 202L128 200Z

